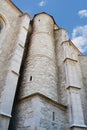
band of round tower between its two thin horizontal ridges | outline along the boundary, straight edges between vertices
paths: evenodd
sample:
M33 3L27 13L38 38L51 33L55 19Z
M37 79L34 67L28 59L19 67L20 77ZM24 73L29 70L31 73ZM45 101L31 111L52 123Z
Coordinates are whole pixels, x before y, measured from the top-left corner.
M35 55L46 55L48 58L55 60L53 38L51 38L46 33L39 33L37 35L33 35L29 55L31 57Z

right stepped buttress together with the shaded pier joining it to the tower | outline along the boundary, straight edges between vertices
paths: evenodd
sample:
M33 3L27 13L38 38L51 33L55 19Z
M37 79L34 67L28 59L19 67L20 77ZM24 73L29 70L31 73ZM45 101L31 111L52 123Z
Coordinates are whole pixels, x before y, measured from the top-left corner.
M65 104L65 102L68 101L67 106L68 106L70 128L72 130L85 130L86 125L84 123L83 109L80 95L81 74L79 70L80 67L78 59L78 55L80 54L80 52L68 39L66 30L64 29L56 30L55 37L58 49L57 59L59 61L58 62L60 70L59 75L62 75L61 79L59 78L59 81L64 95L63 98L61 98L61 102Z

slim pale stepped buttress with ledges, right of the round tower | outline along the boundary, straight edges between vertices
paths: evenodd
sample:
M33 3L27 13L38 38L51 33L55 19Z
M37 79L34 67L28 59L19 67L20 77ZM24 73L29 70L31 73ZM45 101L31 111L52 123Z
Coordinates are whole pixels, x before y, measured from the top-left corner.
M64 66L66 72L66 89L68 92L69 120L72 130L85 130L83 110L80 98L80 79L77 71L78 58L72 51L71 41L62 43L64 49Z

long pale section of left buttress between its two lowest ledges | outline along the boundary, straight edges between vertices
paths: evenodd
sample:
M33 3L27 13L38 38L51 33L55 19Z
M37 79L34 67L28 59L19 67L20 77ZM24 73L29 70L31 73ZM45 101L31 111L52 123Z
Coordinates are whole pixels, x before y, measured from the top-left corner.
M17 75L15 75L12 72L8 73L8 76L6 79L6 85L3 88L2 96L0 99L1 100L0 111L9 115L11 114L11 110L13 106L17 80L18 80Z

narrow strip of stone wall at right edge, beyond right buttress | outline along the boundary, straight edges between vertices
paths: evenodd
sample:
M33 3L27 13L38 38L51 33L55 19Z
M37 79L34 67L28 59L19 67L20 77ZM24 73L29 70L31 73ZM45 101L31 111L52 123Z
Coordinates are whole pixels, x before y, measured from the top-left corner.
M87 125L87 56L79 56L79 62L81 66L82 76L82 90L81 90L81 99L82 107L84 111L84 119Z

